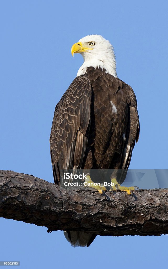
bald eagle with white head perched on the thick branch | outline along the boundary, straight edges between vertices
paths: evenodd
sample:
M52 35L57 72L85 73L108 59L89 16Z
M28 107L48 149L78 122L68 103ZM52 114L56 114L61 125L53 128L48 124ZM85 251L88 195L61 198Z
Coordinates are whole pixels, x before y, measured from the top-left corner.
M84 62L54 112L50 153L56 184L64 182L61 169L128 169L140 131L136 96L117 77L110 42L89 35L71 52L82 54ZM72 246L87 247L96 237L84 231L64 235Z

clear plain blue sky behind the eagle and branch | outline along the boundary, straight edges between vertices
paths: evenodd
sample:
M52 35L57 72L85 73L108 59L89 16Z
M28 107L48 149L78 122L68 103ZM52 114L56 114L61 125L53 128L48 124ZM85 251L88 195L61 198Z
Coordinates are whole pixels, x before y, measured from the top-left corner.
M53 182L49 135L54 108L81 66L71 46L101 34L115 48L117 74L134 89L140 139L130 168L166 169L167 1L1 1L1 167ZM167 236L100 237L72 248L57 231L0 219L0 260L20 268L158 268ZM133 265L131 265L133 264Z

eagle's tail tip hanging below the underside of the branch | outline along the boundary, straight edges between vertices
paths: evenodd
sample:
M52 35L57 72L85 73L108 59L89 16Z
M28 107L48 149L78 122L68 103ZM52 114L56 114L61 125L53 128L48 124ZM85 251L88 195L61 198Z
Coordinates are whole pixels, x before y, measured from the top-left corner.
M89 247L96 235L82 231L64 231L65 238L71 243L72 247Z

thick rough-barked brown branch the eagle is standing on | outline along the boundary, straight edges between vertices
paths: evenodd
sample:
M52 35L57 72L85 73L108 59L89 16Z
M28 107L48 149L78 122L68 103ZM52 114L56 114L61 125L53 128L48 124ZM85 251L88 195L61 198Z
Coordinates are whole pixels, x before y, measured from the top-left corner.
M84 187L62 187L32 175L0 171L0 217L97 235L168 233L168 189L134 196L108 192L110 200Z

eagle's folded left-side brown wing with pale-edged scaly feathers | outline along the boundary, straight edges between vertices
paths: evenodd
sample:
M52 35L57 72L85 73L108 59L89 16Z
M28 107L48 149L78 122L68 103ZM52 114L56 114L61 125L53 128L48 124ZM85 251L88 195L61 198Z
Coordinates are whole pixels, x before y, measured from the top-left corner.
M50 134L50 153L54 182L60 184L61 169L80 168L87 146L92 87L90 80L79 76L56 105ZM62 184L63 182L61 182Z

